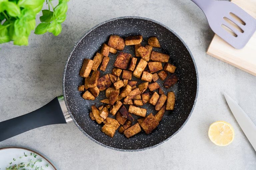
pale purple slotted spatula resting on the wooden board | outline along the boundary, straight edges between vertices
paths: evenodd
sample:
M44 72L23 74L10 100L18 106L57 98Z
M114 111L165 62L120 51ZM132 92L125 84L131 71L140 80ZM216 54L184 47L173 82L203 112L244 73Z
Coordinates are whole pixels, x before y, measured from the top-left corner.
M229 1L191 0L204 12L212 31L241 49L256 30L256 20Z

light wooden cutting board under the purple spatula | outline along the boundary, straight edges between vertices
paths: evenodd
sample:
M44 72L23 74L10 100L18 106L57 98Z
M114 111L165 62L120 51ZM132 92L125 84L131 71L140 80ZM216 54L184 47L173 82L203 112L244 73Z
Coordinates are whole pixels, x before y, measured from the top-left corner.
M231 0L256 19L256 0ZM207 54L256 76L256 32L242 49L235 49L216 34Z

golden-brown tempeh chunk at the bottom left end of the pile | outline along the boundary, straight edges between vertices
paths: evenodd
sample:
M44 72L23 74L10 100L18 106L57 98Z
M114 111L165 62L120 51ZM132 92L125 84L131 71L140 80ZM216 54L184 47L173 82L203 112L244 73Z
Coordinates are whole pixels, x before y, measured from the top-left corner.
M104 132L109 137L113 138L118 127L119 127L119 123L117 122L117 120L112 118L107 118L106 124L101 128L101 131Z

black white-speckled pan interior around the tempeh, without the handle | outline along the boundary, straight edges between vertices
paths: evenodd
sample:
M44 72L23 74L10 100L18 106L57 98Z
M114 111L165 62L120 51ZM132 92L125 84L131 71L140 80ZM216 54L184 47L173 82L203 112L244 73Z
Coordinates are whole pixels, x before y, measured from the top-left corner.
M106 98L105 91L101 91L94 101L84 100L81 97L82 93L77 91L77 87L84 83L84 79L79 76L83 59L93 59L95 53L100 51L102 43L107 43L110 35L119 35L122 38L131 35L142 35L142 45L147 44L148 37L156 36L161 48L153 48L153 50L169 54L169 63L177 67L175 72L179 80L176 85L165 89L162 86L163 82L160 79L157 81L165 95L168 91L175 93L175 109L174 111L166 111L159 126L149 135L140 132L130 139L119 132L115 133L114 138L105 135L101 132L102 125L98 125L89 118L91 105L100 106L100 100ZM123 51L135 56L133 45L126 46ZM101 76L111 73L116 56L116 54L110 54L107 70L104 73L101 71ZM138 79L133 76L133 80L137 81ZM192 112L197 96L197 72L186 45L171 30L144 18L118 18L96 26L86 33L74 47L64 70L63 94L74 122L92 140L113 149L138 150L156 146L166 141L184 125ZM128 105L125 106L128 109ZM149 104L144 105L143 108L148 109L147 115L151 112L156 113Z

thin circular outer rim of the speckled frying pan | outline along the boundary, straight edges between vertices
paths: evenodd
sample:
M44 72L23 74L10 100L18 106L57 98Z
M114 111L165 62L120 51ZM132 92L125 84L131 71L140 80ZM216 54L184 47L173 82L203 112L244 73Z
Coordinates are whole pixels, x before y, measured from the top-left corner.
M196 86L196 96L195 96L195 101L194 101L194 104L192 106L192 109L186 119L186 121L182 124L182 126L175 132L173 133L170 137L168 137L167 139L165 139L164 141L158 143L158 144L155 144L153 146L150 146L150 147L146 147L146 148L142 148L142 149L119 149L119 148L115 148L115 147L111 147L111 146L108 146L108 145L105 145L97 140L95 140L94 138L92 138L90 135L88 135L79 125L78 123L76 122L76 120L74 119L70 109L69 109L69 106L68 106L68 103L67 103L67 99L66 99L66 94L65 94L65 73L66 73L66 69L67 69L67 65L68 65L68 62L69 62L69 59L72 55L72 53L74 52L76 46L78 45L78 43L81 42L81 40L86 36L88 35L91 31L93 31L94 29L96 29L97 27L105 24L105 23L108 23L108 22L111 22L111 21L115 21L115 20L120 20L120 19L142 19L142 20L147 20L147 21L151 21L151 22L154 22L156 24L159 24L161 25L162 27L166 28L167 30L169 30L170 32L172 32L183 44L184 46L186 47L186 49L188 50L191 58L192 58L192 61L193 61L193 64L194 64L194 67L195 67L195 71L196 71L196 80L197 80L197 86ZM84 133L89 139L91 139L92 141L94 141L95 143L101 145L101 146L104 146L104 147L107 147L107 148L110 148L110 149L113 149L113 150L117 150L117 151L129 151L129 152L136 152L136 151L142 151L142 150L147 150L147 149L151 149L151 148L154 148L156 146L159 146L163 143L165 143L166 141L168 141L169 139L171 139L173 136L175 136L184 126L185 124L188 122L192 112L194 111L194 108L195 108L195 105L196 105L196 102L197 102L197 96L198 96L198 90L199 90L199 79L198 79L198 70L197 70L197 66L196 66L196 63L195 63L195 59L190 51L190 49L188 48L187 44L181 39L181 37L179 35L177 35L173 30L171 30L169 27L165 26L164 24L160 23L160 22L157 22L155 20L152 20L152 19L149 19L149 18L145 18L145 17L138 17L138 16L125 16L125 17L117 17L117 18L112 18L110 20L107 20L107 21L104 21L96 26L94 26L93 28L91 28L90 30L88 30L79 40L78 42L75 43L74 47L72 48L67 60L66 60L66 63L65 63L65 67L64 67L64 71L63 71L63 81L62 81L62 90L63 90L63 96L64 96L64 101L65 101L65 104L66 104L66 107L67 107L67 110L70 114L70 117L72 118L73 122L75 123L75 125L79 128L80 131L82 131L82 133Z

